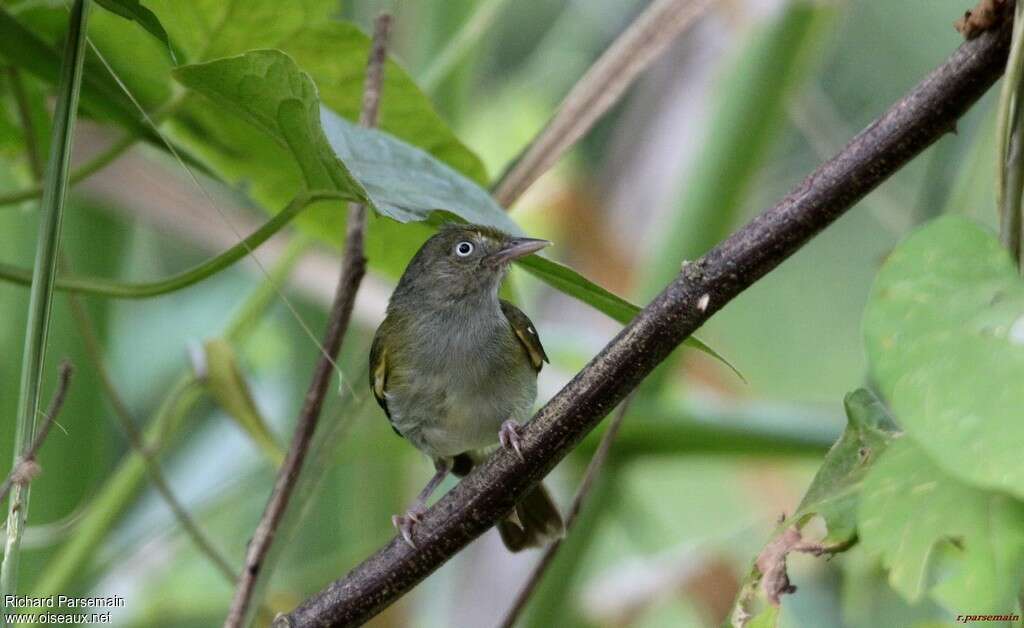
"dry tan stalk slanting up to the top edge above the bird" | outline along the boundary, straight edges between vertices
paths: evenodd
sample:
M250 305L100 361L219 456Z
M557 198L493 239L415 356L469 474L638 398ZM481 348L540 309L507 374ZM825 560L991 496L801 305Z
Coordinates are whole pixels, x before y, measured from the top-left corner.
M712 4L712 0L651 3L572 87L544 130L505 171L494 187L495 200L509 207L522 196Z

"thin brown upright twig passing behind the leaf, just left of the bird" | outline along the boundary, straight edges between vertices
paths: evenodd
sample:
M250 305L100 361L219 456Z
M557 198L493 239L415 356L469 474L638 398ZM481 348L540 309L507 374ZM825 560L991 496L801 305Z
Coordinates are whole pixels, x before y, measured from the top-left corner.
M391 16L383 13L374 24L373 46L370 59L367 61L367 78L362 93L362 109L359 113L359 124L367 127L377 125L377 112L380 104L381 83L384 74L384 61L387 58L387 42L391 31ZM256 589L263 561L278 527L284 519L285 511L291 499L299 473L305 462L309 444L312 441L316 424L319 422L324 397L327 395L331 376L334 373L334 361L341 348L341 341L348 329L355 293L366 274L367 259L364 254L364 232L367 223L367 209L361 204L353 204L349 208L348 225L345 229L345 249L342 257L341 275L335 292L334 303L328 320L328 330L324 337L324 353L316 362L312 382L306 391L305 401L299 418L296 421L295 435L285 463L281 466L273 492L249 542L246 552L246 564L239 578L238 588L224 628L241 628L246 620L248 608Z

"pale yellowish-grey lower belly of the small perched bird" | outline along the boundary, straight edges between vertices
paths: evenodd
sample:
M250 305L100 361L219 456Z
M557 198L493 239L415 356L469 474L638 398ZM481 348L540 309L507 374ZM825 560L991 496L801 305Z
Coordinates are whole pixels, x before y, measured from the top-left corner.
M507 373L481 381L444 373L416 378L417 384L388 391L398 431L432 458L450 458L498 443L508 419L529 417L537 395L536 374Z

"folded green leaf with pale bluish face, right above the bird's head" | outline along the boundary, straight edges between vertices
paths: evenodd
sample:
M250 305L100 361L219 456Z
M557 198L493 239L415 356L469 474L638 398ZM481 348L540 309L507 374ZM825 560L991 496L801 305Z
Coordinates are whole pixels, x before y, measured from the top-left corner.
M426 152L322 109L312 80L279 50L184 66L175 76L283 149L307 189L349 193L352 200L367 202L399 222L427 220L443 209L469 222L519 232L482 189ZM329 136L321 126L322 118ZM280 160L274 163L279 171L283 165ZM274 194L287 193L288 186L279 182ZM342 233L337 222L343 215L336 212L329 218L332 224L324 224L319 216L321 234L337 239ZM372 223L371 235L383 231L375 228L382 226ZM418 246L415 241L409 244ZM406 259L414 250L408 251Z

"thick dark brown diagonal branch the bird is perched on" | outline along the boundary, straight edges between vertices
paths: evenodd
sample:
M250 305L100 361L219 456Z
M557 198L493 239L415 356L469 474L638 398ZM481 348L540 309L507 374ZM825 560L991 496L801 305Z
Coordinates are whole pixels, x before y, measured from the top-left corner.
M524 461L499 451L431 508L418 549L400 539L307 599L278 625L369 620L512 510L611 408L714 312L797 252L944 133L995 82L1010 25L965 43L843 151L679 277L528 424Z

